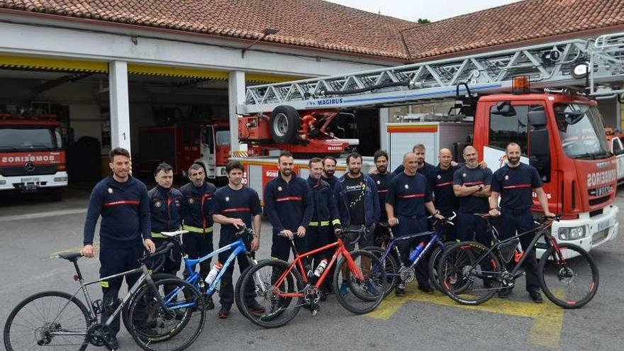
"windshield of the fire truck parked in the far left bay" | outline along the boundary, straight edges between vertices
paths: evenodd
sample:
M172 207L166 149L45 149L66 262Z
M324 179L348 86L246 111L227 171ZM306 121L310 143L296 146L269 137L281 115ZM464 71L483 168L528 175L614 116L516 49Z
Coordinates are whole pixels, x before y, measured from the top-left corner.
M55 150L61 147L54 128L0 127L0 151Z

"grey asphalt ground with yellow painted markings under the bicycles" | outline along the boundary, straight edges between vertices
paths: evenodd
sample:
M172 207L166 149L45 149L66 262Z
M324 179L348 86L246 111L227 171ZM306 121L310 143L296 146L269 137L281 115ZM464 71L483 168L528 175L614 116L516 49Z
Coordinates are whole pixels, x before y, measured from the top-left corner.
M72 265L49 257L81 247L88 199L84 189L88 187L67 189L60 203L0 195L1 328L26 296L77 288ZM620 189L620 208L623 197ZM259 258L268 257L270 231L265 221ZM579 310L564 311L547 300L531 303L522 281L510 301L494 298L472 308L409 286L408 296L391 295L367 316L352 315L330 296L317 316L302 309L291 323L272 330L252 325L236 308L226 320L217 318L217 310L208 311L204 332L188 350L624 350L623 248L624 235L619 235L591 251L600 286L594 300ZM98 276L98 260L79 263L87 279ZM94 288L92 294L101 292ZM140 350L125 330L119 342L121 350Z

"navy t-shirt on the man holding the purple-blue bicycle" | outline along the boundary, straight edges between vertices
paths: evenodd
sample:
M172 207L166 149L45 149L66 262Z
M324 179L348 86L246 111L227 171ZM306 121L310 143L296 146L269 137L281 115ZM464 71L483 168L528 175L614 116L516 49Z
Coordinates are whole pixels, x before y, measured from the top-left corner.
M431 191L423 174L396 174L388 188L386 203L394 206L394 216L425 216L425 202L431 201Z

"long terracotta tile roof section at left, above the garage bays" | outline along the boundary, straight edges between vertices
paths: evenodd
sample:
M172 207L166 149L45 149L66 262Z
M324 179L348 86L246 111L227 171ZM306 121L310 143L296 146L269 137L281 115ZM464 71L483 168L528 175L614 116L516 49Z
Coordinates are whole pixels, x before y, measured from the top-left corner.
M0 0L0 8L52 13L404 59L399 30L413 22L321 0Z

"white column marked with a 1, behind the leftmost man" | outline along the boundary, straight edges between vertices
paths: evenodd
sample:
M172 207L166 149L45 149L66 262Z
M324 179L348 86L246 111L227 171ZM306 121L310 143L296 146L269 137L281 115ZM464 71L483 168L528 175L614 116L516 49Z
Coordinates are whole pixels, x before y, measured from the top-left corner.
M111 147L123 147L130 151L127 62L108 63L108 94L111 104Z

